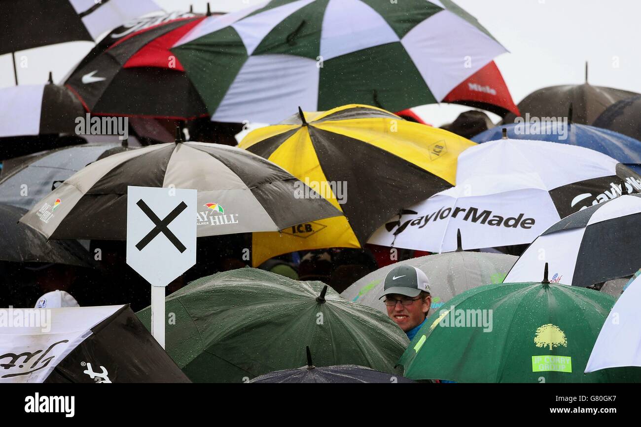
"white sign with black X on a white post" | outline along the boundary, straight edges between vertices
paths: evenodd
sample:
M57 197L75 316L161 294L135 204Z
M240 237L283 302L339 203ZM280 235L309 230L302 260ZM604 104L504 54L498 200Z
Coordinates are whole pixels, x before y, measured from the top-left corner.
M165 286L196 264L194 189L127 187L127 264L151 284L151 335L165 348Z

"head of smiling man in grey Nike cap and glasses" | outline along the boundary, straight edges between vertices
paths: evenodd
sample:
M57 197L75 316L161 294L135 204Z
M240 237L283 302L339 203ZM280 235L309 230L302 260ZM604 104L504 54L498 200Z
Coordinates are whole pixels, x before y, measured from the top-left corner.
M414 266L399 265L385 276L383 297L387 315L411 341L426 321L432 303L428 276Z

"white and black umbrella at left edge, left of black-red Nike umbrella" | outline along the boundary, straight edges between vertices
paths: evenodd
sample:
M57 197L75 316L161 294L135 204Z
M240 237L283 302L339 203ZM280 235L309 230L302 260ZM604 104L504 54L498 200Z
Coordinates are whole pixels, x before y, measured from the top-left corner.
M76 118L85 114L71 91L53 83L4 87L0 89L0 99L2 138L75 134Z

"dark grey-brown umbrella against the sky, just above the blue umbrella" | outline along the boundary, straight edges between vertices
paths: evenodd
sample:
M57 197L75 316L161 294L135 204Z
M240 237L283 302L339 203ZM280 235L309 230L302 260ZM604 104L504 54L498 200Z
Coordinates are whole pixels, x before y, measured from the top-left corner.
M587 79L586 79L587 80ZM567 117L568 107L573 107L572 121L581 125L592 125L594 120L613 103L626 100L635 92L612 89L612 87L582 85L550 86L538 89L519 102L522 117L563 118ZM508 114L503 123L513 123L517 116Z

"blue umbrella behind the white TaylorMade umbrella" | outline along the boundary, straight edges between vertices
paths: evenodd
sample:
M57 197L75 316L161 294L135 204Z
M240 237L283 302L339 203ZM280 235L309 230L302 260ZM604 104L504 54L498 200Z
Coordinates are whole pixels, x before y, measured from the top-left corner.
M590 148L609 155L625 164L637 173L641 173L641 141L612 130L596 128L588 125L578 125L560 121L547 123L511 123L496 126L481 132L472 138L475 143L496 141L502 137L502 129L508 131L510 139L538 139L552 143L572 144Z

